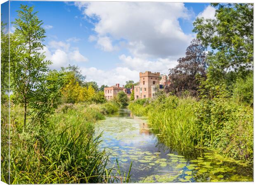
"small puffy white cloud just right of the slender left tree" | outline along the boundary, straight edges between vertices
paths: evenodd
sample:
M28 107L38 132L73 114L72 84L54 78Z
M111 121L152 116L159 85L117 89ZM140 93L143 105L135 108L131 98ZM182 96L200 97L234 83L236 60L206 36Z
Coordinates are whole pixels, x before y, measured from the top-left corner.
M70 49L70 45L65 42L51 41L44 46L45 59L51 60L50 69L60 69L69 64L73 65L77 62L87 62L88 59L83 56L77 48Z

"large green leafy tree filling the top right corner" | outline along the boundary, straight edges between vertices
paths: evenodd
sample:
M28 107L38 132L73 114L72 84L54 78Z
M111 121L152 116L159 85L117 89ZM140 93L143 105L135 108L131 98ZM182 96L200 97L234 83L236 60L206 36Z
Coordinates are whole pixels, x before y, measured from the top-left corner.
M230 70L243 72L253 67L253 4L212 4L216 19L197 18L194 32L212 49L206 62L216 81ZM235 76L234 76L235 78Z

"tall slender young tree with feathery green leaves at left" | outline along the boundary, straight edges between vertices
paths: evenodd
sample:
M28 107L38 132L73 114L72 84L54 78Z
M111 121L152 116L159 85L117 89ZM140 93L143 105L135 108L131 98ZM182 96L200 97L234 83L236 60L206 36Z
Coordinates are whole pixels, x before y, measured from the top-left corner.
M21 5L18 10L19 18L13 23L16 28L10 41L10 75L11 87L17 103L24 107L24 128L26 127L28 107L33 106L31 101L36 90L43 86L43 81L48 72L50 61L44 60L41 52L45 30L42 21L33 12L33 7Z

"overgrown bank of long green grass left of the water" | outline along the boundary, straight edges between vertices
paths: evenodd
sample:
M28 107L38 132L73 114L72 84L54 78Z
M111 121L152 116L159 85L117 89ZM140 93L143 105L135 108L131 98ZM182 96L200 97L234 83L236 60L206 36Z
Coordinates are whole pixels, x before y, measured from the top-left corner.
M46 123L28 124L23 131L22 109L11 112L10 183L110 183L128 181L114 166L108 153L98 150L100 136L92 137L94 123L114 113L118 106L63 104ZM5 160L4 160L5 161ZM8 176L2 180L8 183Z

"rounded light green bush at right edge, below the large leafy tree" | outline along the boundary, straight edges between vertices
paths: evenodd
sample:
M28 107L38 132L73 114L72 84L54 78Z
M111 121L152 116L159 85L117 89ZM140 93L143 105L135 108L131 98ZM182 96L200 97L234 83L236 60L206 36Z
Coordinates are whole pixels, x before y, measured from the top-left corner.
M239 78L235 83L234 99L239 103L249 104L253 106L254 100L254 80L251 73L246 79Z

